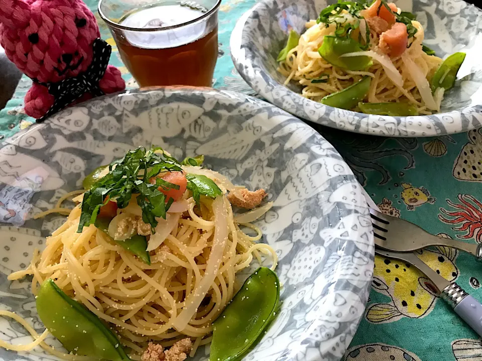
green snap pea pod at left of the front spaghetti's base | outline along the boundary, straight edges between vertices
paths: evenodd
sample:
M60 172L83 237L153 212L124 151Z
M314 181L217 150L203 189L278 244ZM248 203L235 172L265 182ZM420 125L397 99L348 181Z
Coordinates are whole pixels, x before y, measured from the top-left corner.
M45 327L69 352L96 359L130 360L112 331L51 279L42 283L36 305Z

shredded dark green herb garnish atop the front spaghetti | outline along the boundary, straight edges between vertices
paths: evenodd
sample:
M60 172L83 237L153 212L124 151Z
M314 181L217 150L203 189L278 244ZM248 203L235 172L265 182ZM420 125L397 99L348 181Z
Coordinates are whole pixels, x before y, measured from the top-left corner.
M142 209L142 220L150 224L154 232L158 223L156 217L165 219L166 211L173 202L170 198L166 203L164 194L158 188L179 188L160 178L156 179L155 184L150 183L152 177L166 171L182 171L182 168L175 158L160 147L149 150L139 147L127 152L122 159L114 160L109 164L109 173L84 193L77 232L95 223L101 206L115 201L118 208L126 208L133 194L139 194L137 204Z

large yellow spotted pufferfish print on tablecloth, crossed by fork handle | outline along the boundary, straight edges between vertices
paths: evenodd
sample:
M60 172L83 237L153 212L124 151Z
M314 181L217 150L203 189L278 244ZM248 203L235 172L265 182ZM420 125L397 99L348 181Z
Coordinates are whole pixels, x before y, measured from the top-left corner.
M434 251L418 251L417 256L443 278L449 281L457 278L456 250L437 246ZM437 288L417 268L378 255L375 256L372 286L392 299L391 303L374 304L368 309L366 317L375 323L395 322L402 317L424 317L431 312L438 298Z

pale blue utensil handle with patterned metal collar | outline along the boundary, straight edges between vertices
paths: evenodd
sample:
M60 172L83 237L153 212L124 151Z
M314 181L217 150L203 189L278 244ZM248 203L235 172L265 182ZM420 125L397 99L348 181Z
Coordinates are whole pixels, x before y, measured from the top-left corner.
M479 336L482 336L482 304L452 282L442 291L442 297Z

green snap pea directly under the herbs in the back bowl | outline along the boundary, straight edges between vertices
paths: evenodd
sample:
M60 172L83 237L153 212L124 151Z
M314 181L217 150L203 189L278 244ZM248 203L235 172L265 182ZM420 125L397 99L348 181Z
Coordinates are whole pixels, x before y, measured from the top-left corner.
M323 38L323 43L318 48L318 53L328 63L352 71L361 71L372 66L372 58L366 55L356 57L340 58L347 53L363 51L360 44L351 38L338 38L327 35Z

